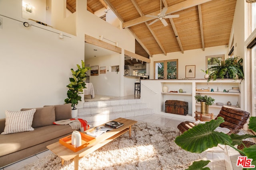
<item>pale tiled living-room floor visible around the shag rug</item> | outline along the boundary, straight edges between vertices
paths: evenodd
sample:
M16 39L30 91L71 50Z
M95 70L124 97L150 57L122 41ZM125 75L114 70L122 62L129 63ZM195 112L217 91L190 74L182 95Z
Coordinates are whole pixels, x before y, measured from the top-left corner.
M186 117L184 116L183 118L181 116L163 115L163 114L142 115L142 116L130 117L130 119L134 119L137 121L146 121L149 123L165 125L168 127L177 127L177 125L180 122L189 120L187 116ZM100 124L102 124L102 122L93 123L94 126L97 126ZM228 150L228 151L225 152L225 150ZM46 150L44 152L41 152L40 154L36 154L35 156L31 156L30 158L14 163L10 166L6 166L0 170L24 170L24 166L26 164L30 164L31 162L34 162L40 158L43 158L44 156L47 156L50 153L52 152L49 150ZM242 170L241 167L236 166L237 156L239 156L238 152L232 148L228 148L225 146L214 147L212 149L209 149L207 152L207 159L211 161L208 164L208 167L211 170Z

